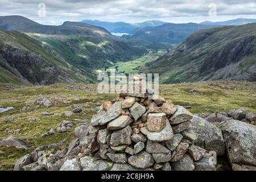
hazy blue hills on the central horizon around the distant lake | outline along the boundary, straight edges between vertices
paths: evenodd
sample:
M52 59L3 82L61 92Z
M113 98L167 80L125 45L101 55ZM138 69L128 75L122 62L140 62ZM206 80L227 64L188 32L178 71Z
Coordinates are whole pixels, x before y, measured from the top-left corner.
M136 31L145 27L155 27L164 24L165 22L159 20L149 20L142 23L125 23L125 22L102 22L99 20L82 20L82 23L91 24L93 26L100 26L106 28L113 33L127 33L134 34Z

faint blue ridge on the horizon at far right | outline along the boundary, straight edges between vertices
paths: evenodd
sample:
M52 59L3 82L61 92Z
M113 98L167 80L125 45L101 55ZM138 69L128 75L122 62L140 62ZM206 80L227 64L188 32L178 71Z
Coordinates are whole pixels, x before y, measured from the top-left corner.
M242 25L242 24L247 24L247 23L256 23L256 19L246 19L246 18L237 18L237 19L232 19L228 20L225 22L209 22L205 21L200 24L205 24L205 25L218 25L218 26L230 26L230 25Z

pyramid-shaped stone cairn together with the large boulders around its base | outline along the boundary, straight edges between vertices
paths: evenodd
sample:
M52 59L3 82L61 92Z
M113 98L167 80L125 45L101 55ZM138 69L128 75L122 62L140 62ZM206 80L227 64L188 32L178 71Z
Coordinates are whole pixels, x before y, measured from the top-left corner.
M35 151L20 158L14 169L216 170L212 151L218 156L227 155L236 169L256 169L255 126L229 120L217 127L172 101L149 97L154 93L145 89L143 77L135 76L134 81L129 86L146 91L121 92L113 101L102 104L90 123L76 127L77 138L68 148L42 159L46 164L39 163L39 153ZM57 145L51 144L48 149Z

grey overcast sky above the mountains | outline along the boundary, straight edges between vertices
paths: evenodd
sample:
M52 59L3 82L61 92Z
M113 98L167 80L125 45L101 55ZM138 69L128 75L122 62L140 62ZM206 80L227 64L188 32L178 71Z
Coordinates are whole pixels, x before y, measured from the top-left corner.
M173 23L199 23L204 20L256 19L255 2L256 0L0 0L0 16L22 15L42 24L62 24L66 20L83 19L129 23L158 19ZM38 16L39 3L46 5L45 17Z

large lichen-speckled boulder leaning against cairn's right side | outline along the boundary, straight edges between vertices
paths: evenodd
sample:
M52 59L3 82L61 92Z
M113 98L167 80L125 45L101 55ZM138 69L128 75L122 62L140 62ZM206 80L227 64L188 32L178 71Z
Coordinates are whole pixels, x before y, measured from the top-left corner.
M192 130L195 130L197 134L195 145L204 148L207 152L215 151L217 155L225 155L225 143L221 129L197 116L194 116L191 121Z

